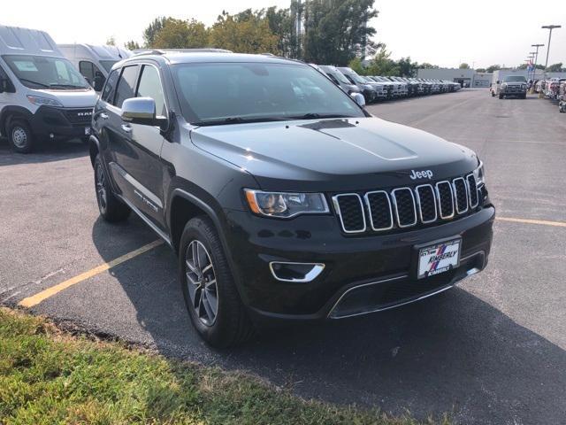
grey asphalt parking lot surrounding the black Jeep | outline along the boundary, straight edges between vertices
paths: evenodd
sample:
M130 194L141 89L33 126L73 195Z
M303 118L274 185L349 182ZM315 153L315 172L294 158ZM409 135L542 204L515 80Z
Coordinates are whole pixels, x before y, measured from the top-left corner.
M134 215L119 225L98 217L86 147L24 156L3 140L0 303L27 299L69 328L246 369L308 398L466 424L566 423L566 117L545 100L486 89L368 110L484 160L498 213L485 272L413 305L216 352L188 321L172 251L146 246L157 236Z

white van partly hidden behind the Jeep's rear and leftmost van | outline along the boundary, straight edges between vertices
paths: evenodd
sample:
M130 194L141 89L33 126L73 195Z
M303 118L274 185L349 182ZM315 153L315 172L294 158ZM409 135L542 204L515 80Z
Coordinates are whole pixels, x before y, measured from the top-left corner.
M130 50L117 46L57 44L57 47L98 92L103 89L104 81L108 78L112 66L132 56Z

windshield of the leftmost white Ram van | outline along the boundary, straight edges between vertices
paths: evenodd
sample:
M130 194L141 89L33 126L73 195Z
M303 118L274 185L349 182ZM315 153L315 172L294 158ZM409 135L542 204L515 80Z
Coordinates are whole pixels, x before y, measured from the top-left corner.
M3 58L11 72L30 89L90 88L79 71L65 58L24 55L6 55Z

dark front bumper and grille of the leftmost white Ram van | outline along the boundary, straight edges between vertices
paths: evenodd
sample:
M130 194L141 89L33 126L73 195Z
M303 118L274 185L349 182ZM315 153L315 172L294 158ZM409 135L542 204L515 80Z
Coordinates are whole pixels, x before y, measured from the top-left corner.
M89 135L92 108L40 106L30 119L34 135L73 138Z

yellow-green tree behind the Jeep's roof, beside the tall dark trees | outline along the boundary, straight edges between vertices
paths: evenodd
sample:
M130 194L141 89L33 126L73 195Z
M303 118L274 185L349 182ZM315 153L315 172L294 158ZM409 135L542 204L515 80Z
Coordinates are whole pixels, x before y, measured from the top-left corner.
M210 28L210 42L214 47L238 53L278 52L278 37L261 11L247 10L237 15L222 12Z

